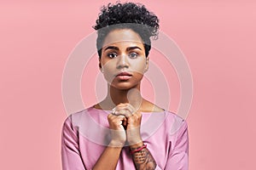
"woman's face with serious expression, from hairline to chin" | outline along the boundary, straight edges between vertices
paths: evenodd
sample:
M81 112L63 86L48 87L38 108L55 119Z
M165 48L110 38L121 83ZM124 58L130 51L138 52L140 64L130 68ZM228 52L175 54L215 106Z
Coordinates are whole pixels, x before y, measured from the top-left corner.
M148 70L142 38L131 29L110 31L102 45L101 71L113 88L139 88Z

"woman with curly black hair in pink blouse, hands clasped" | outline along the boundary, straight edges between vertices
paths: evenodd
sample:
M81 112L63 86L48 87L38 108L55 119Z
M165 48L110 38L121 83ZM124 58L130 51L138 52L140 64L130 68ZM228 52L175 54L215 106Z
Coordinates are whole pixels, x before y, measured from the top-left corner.
M67 117L63 169L188 169L186 122L140 93L148 71L150 37L157 36L158 23L143 5L102 8L95 26L96 46L108 94L102 102ZM175 122L180 127L171 133Z

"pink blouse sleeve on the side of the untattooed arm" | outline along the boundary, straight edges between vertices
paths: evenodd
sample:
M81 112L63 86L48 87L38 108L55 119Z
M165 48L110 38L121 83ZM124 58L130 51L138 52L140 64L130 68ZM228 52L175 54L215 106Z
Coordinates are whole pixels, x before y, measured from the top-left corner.
M71 116L62 127L61 161L62 170L85 170L79 151L78 130L73 127Z

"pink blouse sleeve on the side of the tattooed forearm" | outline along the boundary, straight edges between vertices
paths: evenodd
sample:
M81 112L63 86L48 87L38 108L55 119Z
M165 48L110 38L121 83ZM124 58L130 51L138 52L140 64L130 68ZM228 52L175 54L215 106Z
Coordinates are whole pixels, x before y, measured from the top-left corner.
M178 129L175 145L169 153L166 168L168 170L188 170L189 169L189 134L188 125L183 121Z

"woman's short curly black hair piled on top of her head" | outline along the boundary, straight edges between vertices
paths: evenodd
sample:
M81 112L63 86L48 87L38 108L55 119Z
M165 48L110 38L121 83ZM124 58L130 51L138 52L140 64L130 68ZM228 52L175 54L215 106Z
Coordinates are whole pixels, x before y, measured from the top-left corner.
M136 31L143 39L146 57L151 48L150 37L158 36L159 19L139 3L108 3L103 6L94 29L98 33L96 48L99 57L102 56L102 43L109 31L113 29L131 29Z

